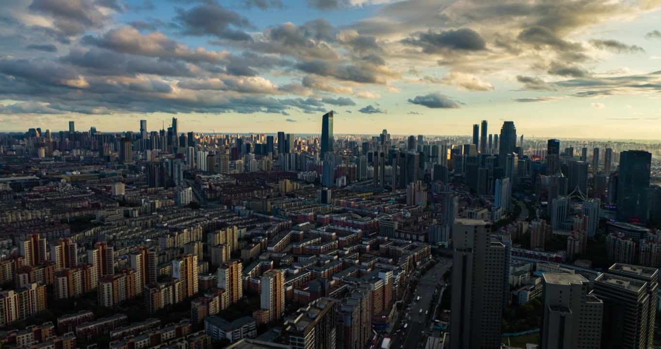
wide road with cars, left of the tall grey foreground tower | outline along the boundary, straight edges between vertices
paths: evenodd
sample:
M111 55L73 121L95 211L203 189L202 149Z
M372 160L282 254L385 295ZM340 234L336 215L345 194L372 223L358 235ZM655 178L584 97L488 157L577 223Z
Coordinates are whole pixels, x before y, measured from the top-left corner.
M414 292L412 302L410 303L410 310L406 311L403 319L399 325L400 332L393 329L391 338L393 340L392 348L417 348L420 342L420 334L429 330L430 321L434 319L433 313L426 314L429 310L430 303L434 298L434 291L436 286L441 281L443 274L452 265L451 258L439 257L439 262L433 266L426 274L422 275L418 282L417 290L410 290ZM420 301L416 299L420 296ZM408 308L409 305L406 305ZM422 312L420 311L422 310ZM404 329L404 324L408 324Z

